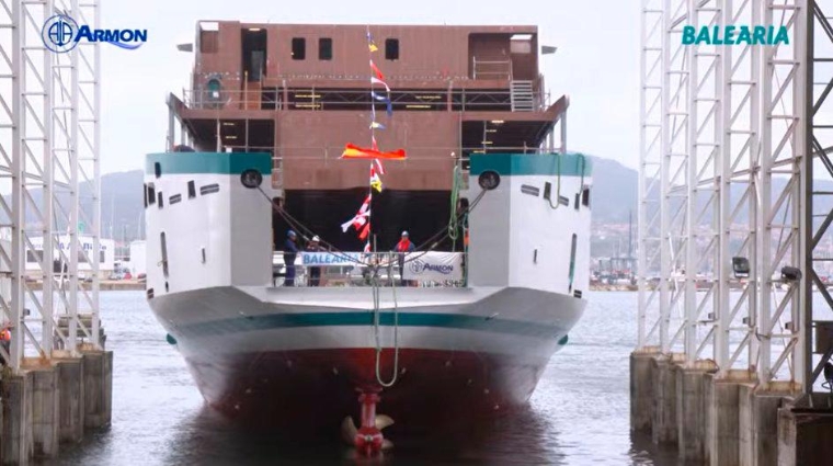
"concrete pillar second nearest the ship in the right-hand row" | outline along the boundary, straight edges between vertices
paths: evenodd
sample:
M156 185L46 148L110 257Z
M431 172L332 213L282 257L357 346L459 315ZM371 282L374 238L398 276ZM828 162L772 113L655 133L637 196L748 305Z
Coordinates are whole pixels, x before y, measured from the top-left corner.
M660 355L651 360L651 439L653 443L676 443L676 377L671 356Z

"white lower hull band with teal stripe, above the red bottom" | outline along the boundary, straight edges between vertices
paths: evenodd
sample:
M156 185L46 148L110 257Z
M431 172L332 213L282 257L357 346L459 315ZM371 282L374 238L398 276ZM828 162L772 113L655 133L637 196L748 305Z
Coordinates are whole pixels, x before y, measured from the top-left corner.
M397 297L399 326L390 296L380 306L381 348L393 348L397 329L399 348L543 359L584 308L571 296L523 288L398 288ZM158 297L151 306L190 359L376 348L369 288L220 287ZM367 323L351 325L362 315Z

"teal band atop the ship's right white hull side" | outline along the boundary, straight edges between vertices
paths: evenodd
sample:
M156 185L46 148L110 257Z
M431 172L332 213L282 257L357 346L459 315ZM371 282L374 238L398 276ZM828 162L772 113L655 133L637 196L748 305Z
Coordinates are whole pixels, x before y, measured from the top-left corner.
M560 159L560 162L559 162ZM502 175L590 177L593 162L583 154L475 154L471 174L491 170Z

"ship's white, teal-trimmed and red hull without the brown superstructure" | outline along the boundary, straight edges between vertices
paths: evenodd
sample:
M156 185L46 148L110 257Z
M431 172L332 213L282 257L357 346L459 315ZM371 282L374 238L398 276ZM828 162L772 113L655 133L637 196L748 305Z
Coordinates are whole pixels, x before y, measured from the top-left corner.
M581 317L583 157L472 158L503 181L469 214L466 286L383 287L378 306L368 286L269 286L272 206L241 183L255 169L269 173L269 155L152 155L146 177L150 306L227 413L338 422L356 389L383 388L409 424L517 406Z

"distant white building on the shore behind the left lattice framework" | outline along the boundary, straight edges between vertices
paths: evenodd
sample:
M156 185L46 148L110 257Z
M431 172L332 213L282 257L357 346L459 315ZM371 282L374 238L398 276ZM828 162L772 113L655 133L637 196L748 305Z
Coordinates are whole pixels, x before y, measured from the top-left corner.
M92 272L92 265L88 261L88 258L90 261L99 261L99 277L100 279L106 279L114 269L114 262L115 262L115 248L114 242L112 239L99 239L99 252L93 253L93 242L92 237L89 236L79 236L80 242L81 242L81 249L82 251L79 251L78 253L78 271L79 275L87 277L90 275L90 272ZM43 237L38 238L32 238L32 245L34 247L33 249L26 248L26 274L27 275L39 275L41 274L41 265L39 261L43 258L44 254L44 239ZM55 245L55 249L53 251L53 260L54 260L54 266L56 271L59 271L61 269L60 261L62 255L67 255L69 253L70 247L70 239L69 235L61 235L57 238L57 243ZM60 254L59 251L62 251L64 254ZM66 257L66 260L69 260L69 257ZM68 264L66 265L68 266Z

